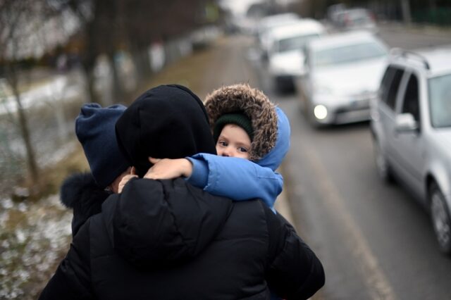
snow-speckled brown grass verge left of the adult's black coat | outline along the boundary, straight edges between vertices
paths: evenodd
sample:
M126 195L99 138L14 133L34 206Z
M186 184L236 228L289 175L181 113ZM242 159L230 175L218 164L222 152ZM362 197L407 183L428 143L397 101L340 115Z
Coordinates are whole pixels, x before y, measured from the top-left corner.
M23 199L1 199L0 299L36 299L63 259L72 212L61 205L58 189L68 175L87 168L77 145L63 160L41 170L39 199L26 194Z

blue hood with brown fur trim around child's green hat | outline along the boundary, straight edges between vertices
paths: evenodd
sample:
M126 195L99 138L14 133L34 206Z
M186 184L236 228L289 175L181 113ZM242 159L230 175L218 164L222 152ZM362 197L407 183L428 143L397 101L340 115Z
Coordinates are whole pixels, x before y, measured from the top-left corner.
M278 168L290 147L290 123L263 92L247 83L228 85L208 94L204 104L212 132L224 113L245 113L254 130L249 159L273 170Z

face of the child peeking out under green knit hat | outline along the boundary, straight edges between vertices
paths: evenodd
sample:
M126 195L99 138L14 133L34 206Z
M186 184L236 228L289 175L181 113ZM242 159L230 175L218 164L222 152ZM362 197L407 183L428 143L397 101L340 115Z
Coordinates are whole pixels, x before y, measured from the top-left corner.
M232 156L249 159L251 139L240 126L227 124L216 142L218 156Z

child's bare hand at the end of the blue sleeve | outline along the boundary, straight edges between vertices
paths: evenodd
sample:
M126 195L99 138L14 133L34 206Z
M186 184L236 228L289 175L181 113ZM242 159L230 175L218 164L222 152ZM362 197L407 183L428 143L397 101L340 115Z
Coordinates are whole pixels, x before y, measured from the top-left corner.
M190 177L192 164L186 158L152 158L149 161L154 165L150 168L144 178L149 179L173 179L180 176Z

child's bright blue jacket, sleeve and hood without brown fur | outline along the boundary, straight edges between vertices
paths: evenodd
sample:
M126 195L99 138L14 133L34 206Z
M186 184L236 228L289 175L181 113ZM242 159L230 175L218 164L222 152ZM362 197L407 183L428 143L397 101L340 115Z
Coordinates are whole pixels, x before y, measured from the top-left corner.
M256 163L243 158L196 154L187 157L193 165L187 181L206 192L235 201L258 198L274 211L274 202L283 188L283 177L276 172L290 148L290 123L280 108L278 137L271 151Z

